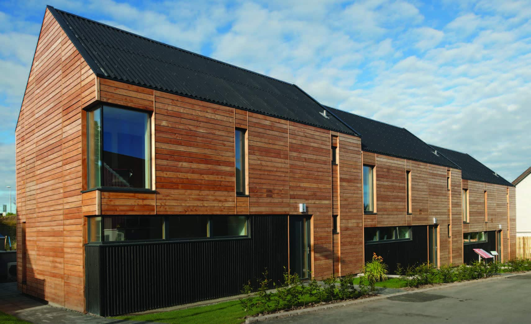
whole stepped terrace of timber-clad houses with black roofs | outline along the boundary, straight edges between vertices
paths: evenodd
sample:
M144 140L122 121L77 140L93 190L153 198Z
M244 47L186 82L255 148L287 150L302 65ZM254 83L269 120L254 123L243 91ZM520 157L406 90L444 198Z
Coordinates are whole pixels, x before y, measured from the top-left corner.
M50 6L16 177L19 290L102 316L516 254L515 187L468 154Z

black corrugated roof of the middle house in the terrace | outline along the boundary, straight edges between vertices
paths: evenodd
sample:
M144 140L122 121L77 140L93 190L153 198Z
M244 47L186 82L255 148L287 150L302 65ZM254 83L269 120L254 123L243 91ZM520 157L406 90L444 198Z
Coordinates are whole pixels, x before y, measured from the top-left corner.
M435 150L430 145L424 143L405 128L332 107L328 108L361 134L363 151L443 165L444 167L459 168L458 165L441 154L435 155L433 153Z

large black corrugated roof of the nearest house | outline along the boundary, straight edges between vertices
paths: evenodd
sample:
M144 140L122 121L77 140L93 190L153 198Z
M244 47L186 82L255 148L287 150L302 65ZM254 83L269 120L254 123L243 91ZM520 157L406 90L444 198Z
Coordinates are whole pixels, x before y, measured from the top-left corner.
M323 117L324 107L294 84L48 10L99 77L359 136L335 116Z

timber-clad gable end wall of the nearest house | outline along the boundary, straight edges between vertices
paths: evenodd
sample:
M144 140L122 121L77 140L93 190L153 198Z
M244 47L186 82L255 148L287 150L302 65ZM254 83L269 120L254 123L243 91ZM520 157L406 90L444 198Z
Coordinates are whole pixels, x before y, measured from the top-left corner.
M81 108L95 100L95 75L46 10L15 130L18 238L25 241L18 246L18 288L78 311L84 310Z

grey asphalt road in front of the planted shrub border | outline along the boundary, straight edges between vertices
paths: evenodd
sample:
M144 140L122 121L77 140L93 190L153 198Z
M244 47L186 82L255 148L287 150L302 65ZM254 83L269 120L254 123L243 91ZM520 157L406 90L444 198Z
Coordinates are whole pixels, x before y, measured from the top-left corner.
M268 323L531 323L531 274L412 292Z

